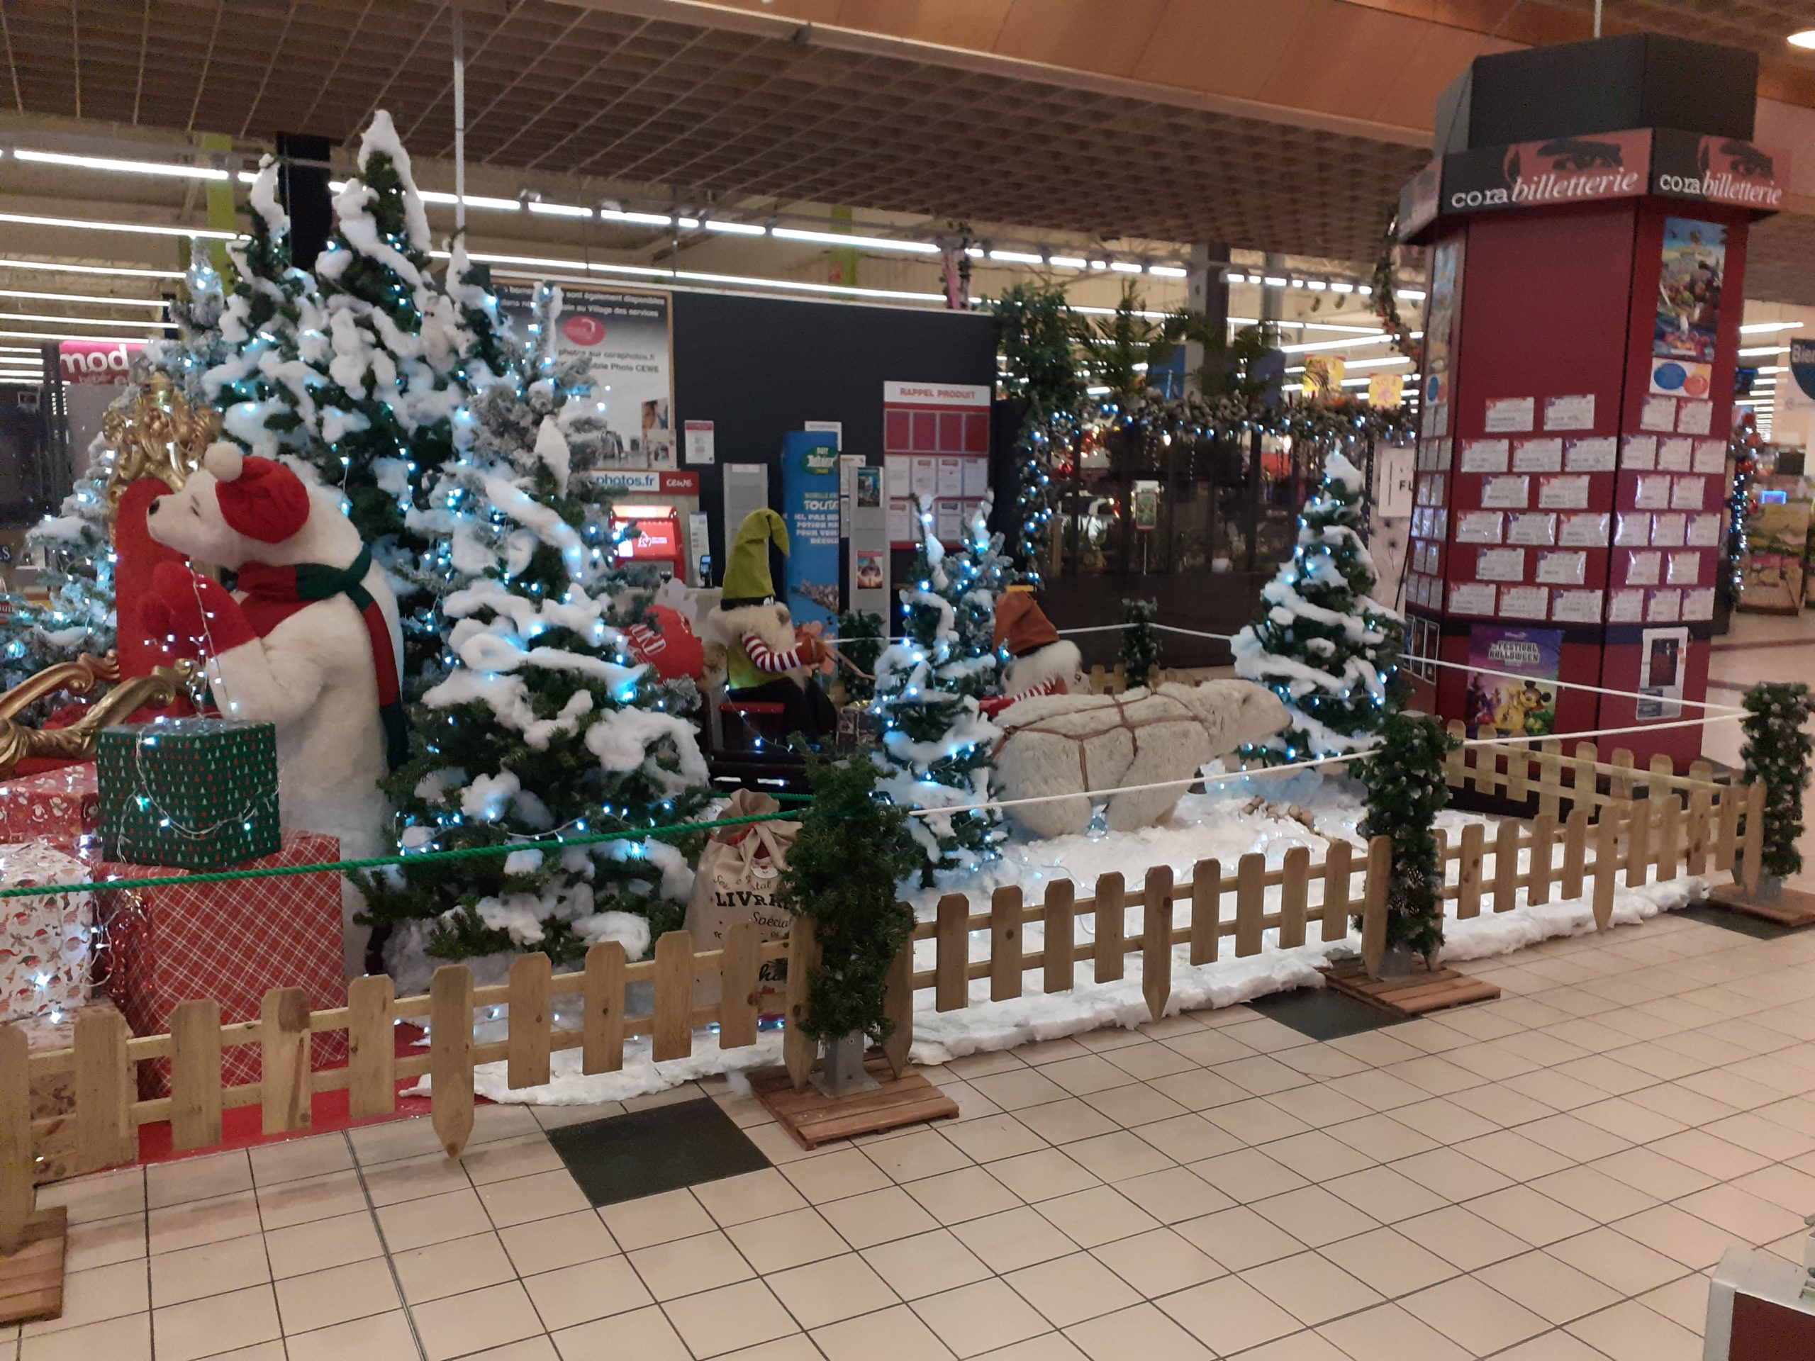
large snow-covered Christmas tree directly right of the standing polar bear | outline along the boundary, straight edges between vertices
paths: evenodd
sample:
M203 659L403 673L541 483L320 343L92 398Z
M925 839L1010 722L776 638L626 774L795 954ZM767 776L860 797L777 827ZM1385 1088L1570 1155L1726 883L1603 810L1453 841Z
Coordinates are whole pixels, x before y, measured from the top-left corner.
M410 515L443 546L432 563L446 671L412 706L410 760L387 784L405 853L517 849L361 882L370 920L394 929L399 987L434 964L506 951L572 962L617 940L639 958L681 924L692 887L675 840L564 840L677 826L710 793L693 726L628 657L623 602L635 590L608 494L570 475L563 417L579 397L550 376L559 292L541 299L541 339L523 352L501 341L510 377L474 403L470 446Z

